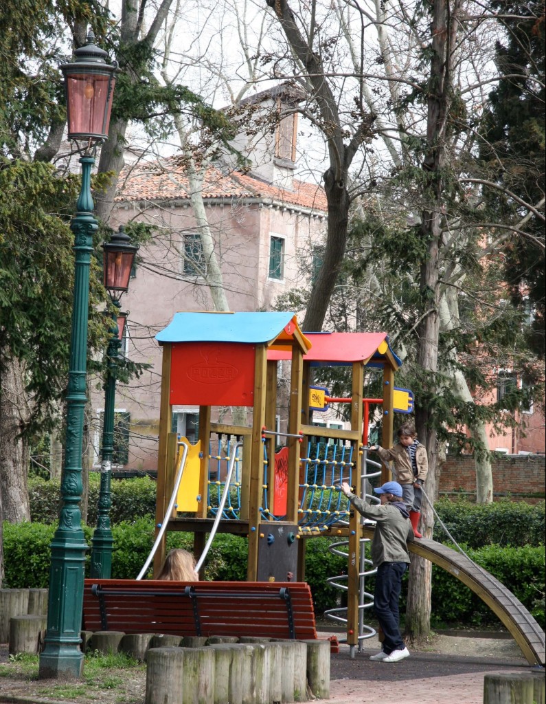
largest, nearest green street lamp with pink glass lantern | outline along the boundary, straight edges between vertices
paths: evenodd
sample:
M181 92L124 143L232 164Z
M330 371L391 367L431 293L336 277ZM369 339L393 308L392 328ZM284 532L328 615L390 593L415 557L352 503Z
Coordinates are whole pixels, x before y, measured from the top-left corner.
M93 233L91 168L96 145L108 139L115 65L106 63L106 51L94 45L75 51L75 60L61 66L65 77L68 139L82 152L82 187L76 215L70 222L74 233L75 275L70 365L66 396L66 438L61 511L51 542L49 603L45 647L39 658L39 677L82 677L83 653L80 630L84 593L84 562L87 543L82 531L82 446L84 410L87 403L87 323L89 315L89 267ZM80 144L78 144L78 142Z

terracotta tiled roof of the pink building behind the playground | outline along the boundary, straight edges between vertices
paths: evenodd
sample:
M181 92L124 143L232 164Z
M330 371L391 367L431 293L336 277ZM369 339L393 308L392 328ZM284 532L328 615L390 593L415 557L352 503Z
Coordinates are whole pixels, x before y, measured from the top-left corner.
M281 189L238 171L222 173L208 168L203 182L205 199L263 199L266 203L286 203L326 212L326 194L317 184L293 180L293 189ZM118 182L117 202L189 200L184 165L175 159L139 162L125 168Z

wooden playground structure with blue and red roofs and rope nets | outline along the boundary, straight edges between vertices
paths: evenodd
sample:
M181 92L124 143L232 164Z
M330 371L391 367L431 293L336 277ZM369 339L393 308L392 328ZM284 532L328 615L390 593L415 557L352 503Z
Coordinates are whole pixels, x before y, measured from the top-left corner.
M219 530L248 536L248 582L290 582L294 577L302 582L307 539L345 539L347 642L354 653L362 637L363 545L372 529L357 512L348 511L338 487L345 480L357 493L366 492L370 403L381 403L383 446L393 444L394 375L401 363L387 335L303 334L292 313L177 313L156 339L163 346L163 370L154 574L165 558L165 530L192 532L197 558L205 555L206 534ZM288 360L288 427L280 432L275 427L277 373L279 363ZM350 429L310 425L317 395L312 369L324 365L351 369L350 398L327 399L350 403ZM383 375L383 398L366 403L364 374L374 367ZM193 446L170 432L172 407L184 405L199 406L198 443ZM212 408L226 406L250 408L251 425L213 423ZM284 446L276 447L281 441ZM391 478L388 467L371 464L372 470L378 468L372 474L380 475L380 482ZM418 552L455 576L461 574L452 566L455 557L443 555L438 561L424 544ZM480 589L474 591L484 598L486 590ZM484 601L491 605L495 599L500 595ZM528 660L544 662L538 624L533 627L521 604L512 611L505 617Z

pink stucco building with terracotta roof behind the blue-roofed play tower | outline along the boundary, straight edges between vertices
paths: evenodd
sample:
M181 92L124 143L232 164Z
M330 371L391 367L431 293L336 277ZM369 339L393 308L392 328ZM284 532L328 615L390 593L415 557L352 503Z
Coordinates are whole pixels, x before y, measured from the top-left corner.
M233 311L271 310L288 289L308 286L324 239L324 191L293 179L293 163L274 153L269 177L281 185L267 182L263 169L258 176L211 166L204 178L203 205ZM161 349L155 334L179 310L214 310L202 275L207 262L183 163L176 158L141 162L122 174L110 225L133 220L154 225L155 231L153 240L141 247L129 291L122 297L122 310L129 311L124 352L151 368L128 387L118 384L116 410L130 426L129 454L118 463L148 470L155 469L159 429ZM92 403L97 465L101 391L94 392ZM191 439L198 409L174 411L177 431Z

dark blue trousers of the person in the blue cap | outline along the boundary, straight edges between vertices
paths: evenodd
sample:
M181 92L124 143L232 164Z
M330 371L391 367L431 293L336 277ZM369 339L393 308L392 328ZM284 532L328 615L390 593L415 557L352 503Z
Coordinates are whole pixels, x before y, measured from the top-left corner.
M402 576L406 570L405 562L383 562L377 568L374 610L379 626L385 634L383 650L389 655L393 650L405 648L400 634L398 599L402 589Z

